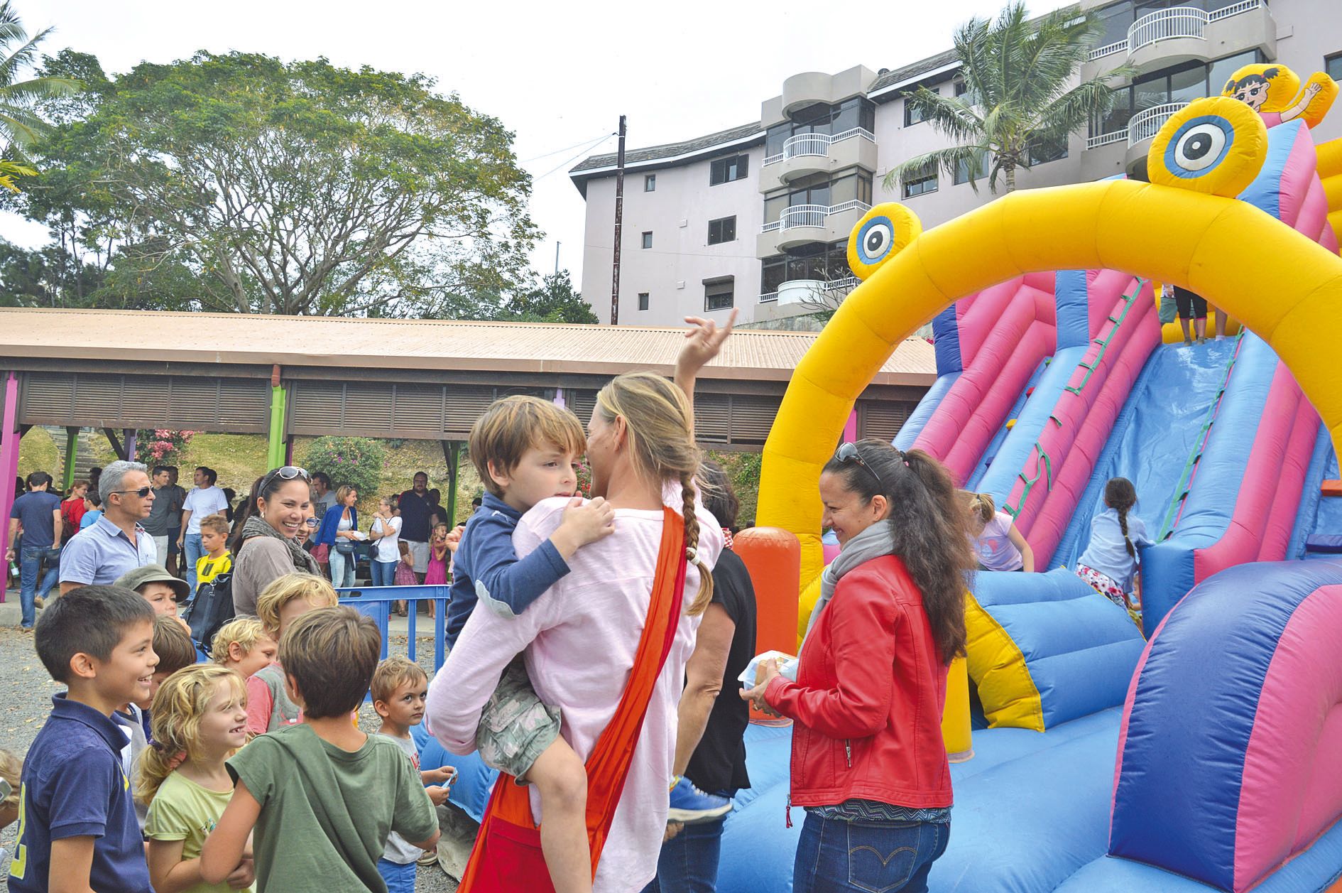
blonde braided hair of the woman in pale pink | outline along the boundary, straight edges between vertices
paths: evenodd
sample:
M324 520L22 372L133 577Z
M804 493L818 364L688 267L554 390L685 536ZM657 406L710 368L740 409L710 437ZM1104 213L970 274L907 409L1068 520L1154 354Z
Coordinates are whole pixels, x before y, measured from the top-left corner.
M650 481L678 481L684 502L684 559L699 569L699 591L687 614L698 616L713 600L713 572L699 557L699 498L695 475L702 454L694 442L690 402L680 388L651 372L629 372L611 380L596 395L596 411L605 422L623 418L629 453L639 474Z

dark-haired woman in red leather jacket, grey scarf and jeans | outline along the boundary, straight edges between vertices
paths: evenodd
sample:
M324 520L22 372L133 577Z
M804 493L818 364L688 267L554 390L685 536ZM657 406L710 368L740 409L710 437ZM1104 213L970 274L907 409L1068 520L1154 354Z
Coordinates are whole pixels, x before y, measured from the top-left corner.
M797 679L769 662L742 697L796 722L789 808L807 820L794 893L922 893L950 835L941 714L974 565L964 508L939 462L879 440L841 444L820 498L841 552Z

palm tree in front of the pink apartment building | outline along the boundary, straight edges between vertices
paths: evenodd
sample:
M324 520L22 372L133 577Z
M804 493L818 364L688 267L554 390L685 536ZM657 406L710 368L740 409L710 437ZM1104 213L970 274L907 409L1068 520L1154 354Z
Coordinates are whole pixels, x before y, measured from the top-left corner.
M1114 102L1108 81L1133 71L1118 67L1098 78L1068 87L1087 60L1099 26L1094 13L1068 7L1031 21L1021 0L1013 0L996 23L972 19L956 31L965 90L942 97L918 87L905 102L914 114L958 145L937 149L895 165L886 173L892 189L913 176L941 168L977 177L989 168L988 185L997 192L997 177L1007 191L1016 188L1016 169L1031 168L1033 152L1066 146L1067 137L1091 115L1104 114ZM986 161L990 158L990 161Z

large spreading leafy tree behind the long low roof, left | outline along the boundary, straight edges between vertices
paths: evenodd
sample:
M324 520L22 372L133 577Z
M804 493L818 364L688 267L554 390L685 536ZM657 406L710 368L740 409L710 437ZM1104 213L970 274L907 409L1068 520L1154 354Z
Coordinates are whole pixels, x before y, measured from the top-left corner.
M200 52L70 114L25 214L105 263L98 306L442 316L537 236L513 134L423 75Z

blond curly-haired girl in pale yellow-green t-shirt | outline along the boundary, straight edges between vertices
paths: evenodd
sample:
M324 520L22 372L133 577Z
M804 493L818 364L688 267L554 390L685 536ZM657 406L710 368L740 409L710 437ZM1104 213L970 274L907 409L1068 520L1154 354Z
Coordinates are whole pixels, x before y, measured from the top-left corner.
M247 743L247 690L238 673L197 663L174 673L153 701L154 745L140 760L137 798L149 807L149 878L157 893L252 890L243 855L223 884L200 877L200 850L232 796L224 760Z

